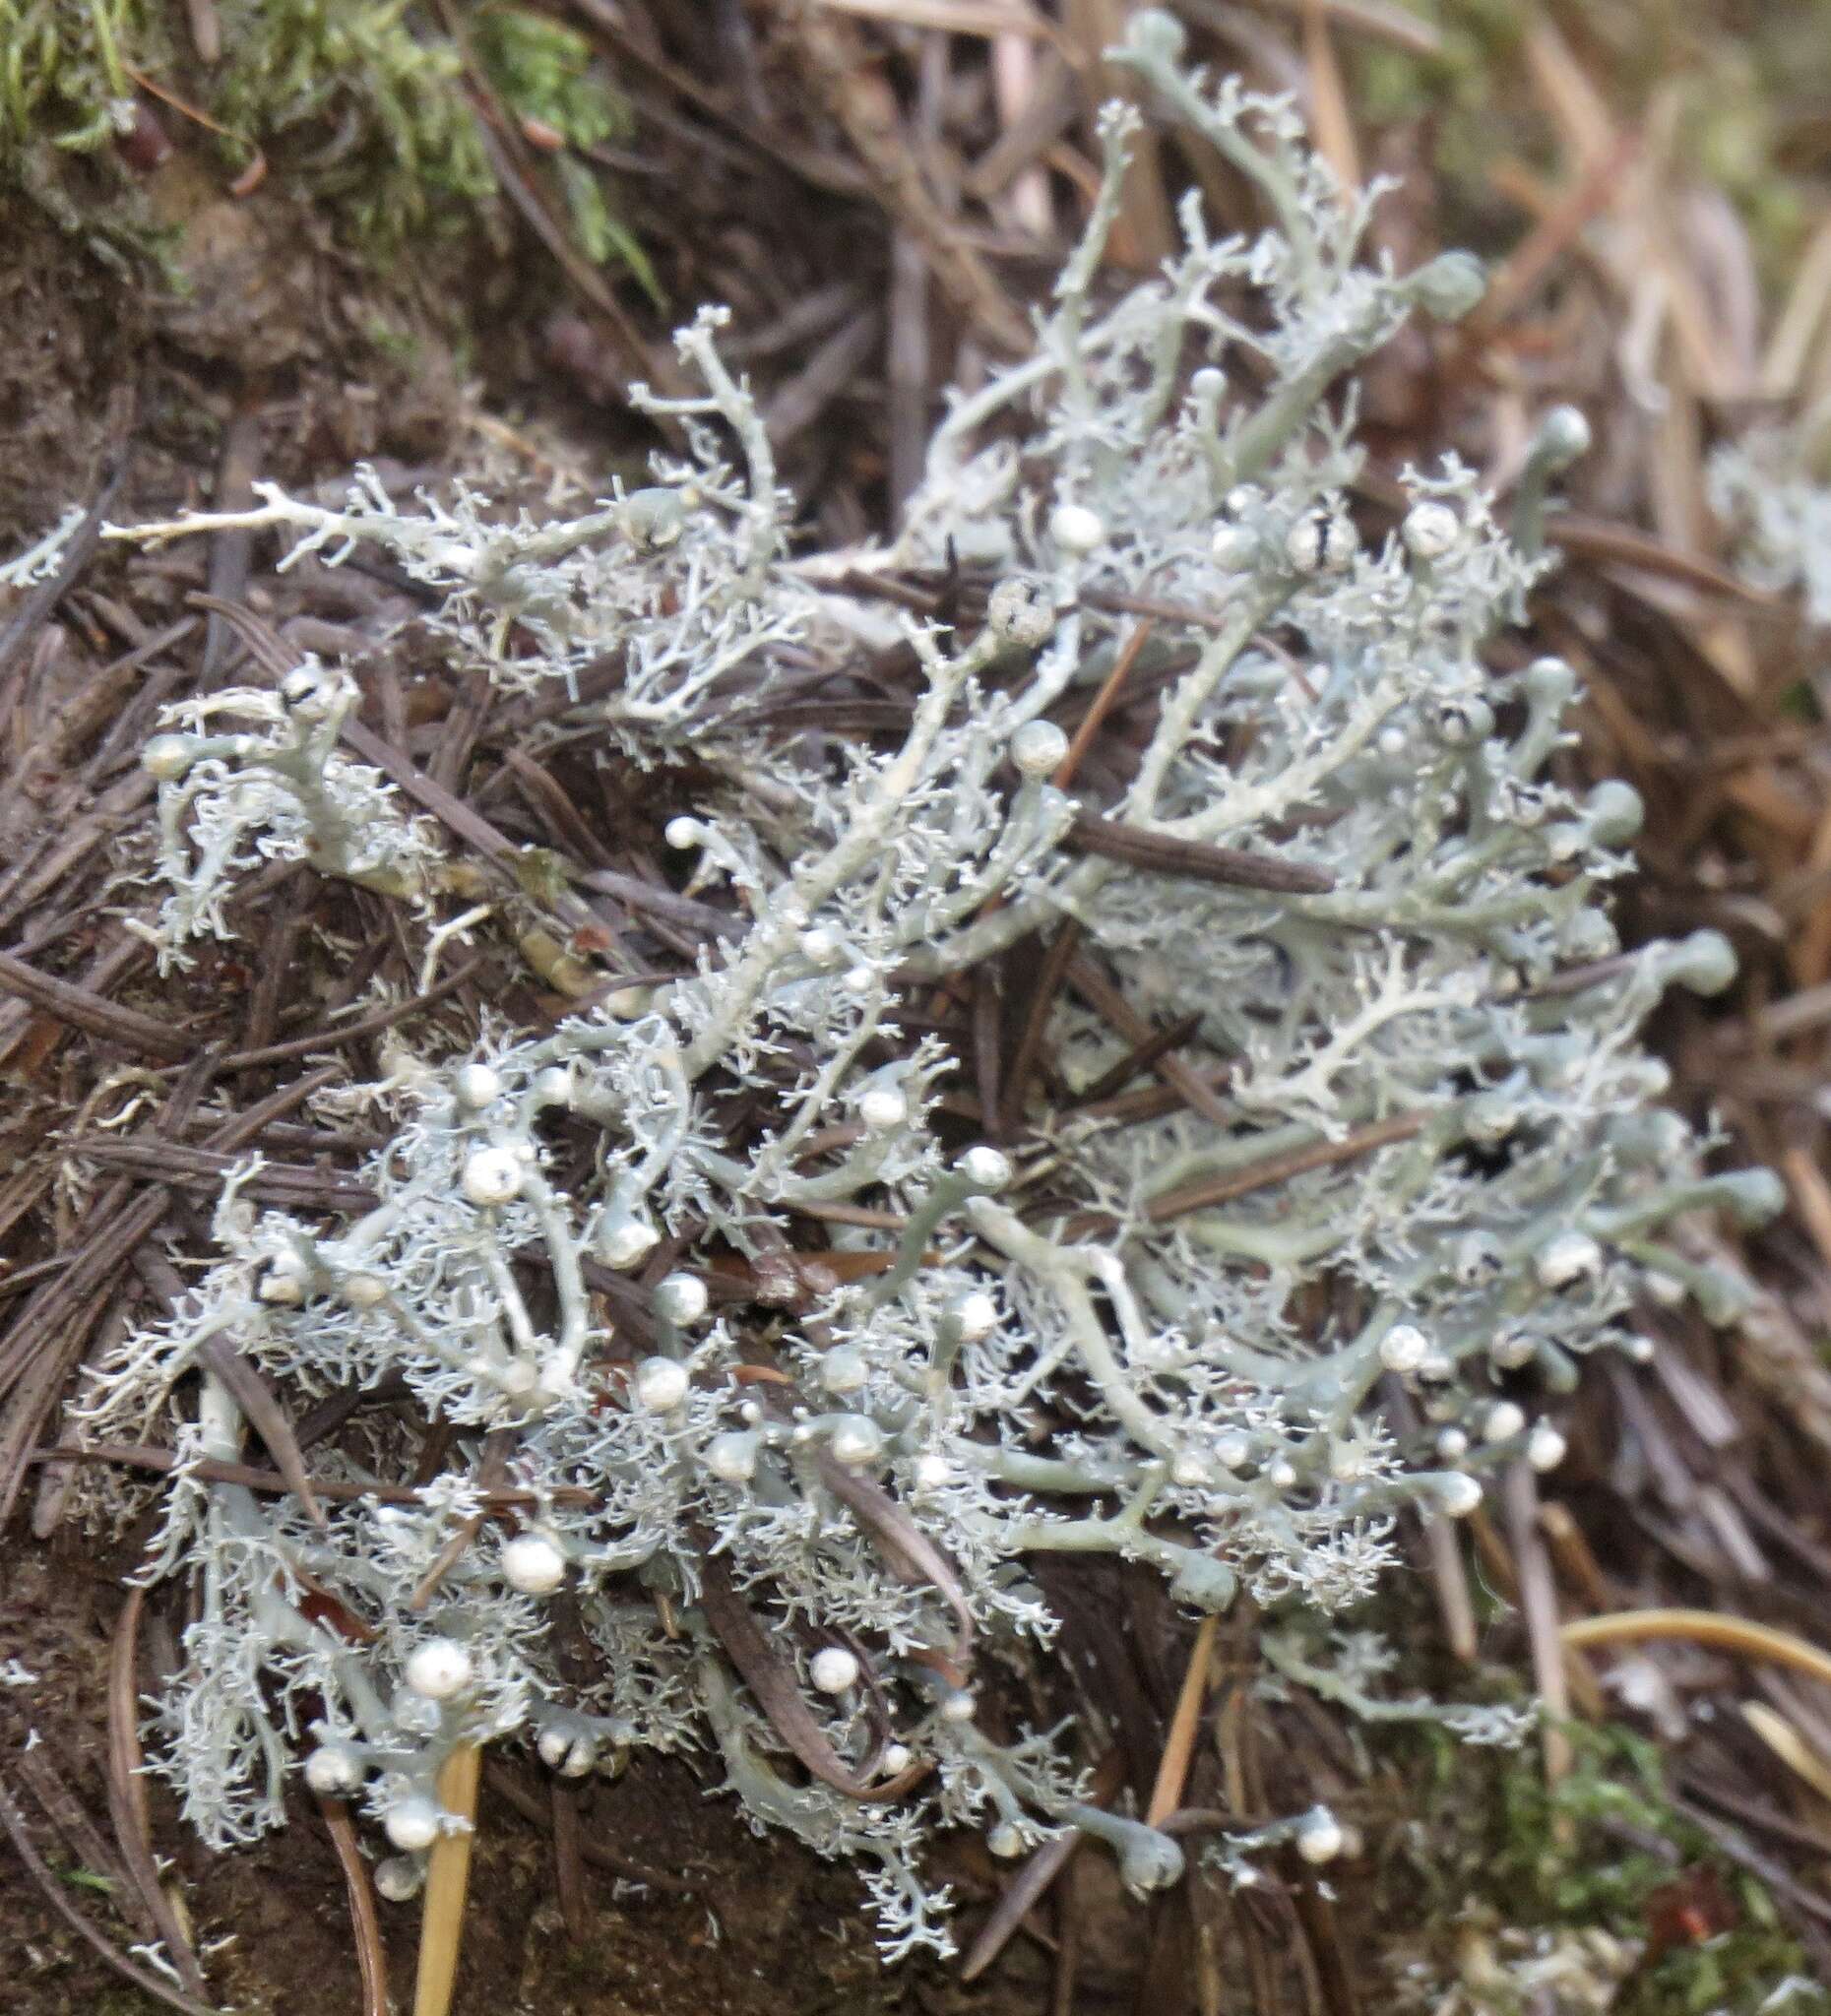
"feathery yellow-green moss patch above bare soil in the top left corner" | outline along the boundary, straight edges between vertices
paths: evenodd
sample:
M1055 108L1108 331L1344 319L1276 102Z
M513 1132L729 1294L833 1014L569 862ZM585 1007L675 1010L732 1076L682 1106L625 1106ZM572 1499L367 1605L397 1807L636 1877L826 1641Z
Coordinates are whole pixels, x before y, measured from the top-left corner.
M536 137L532 173L581 252L655 290L589 157L627 113L573 28L508 0L460 8L456 32L415 0L220 0L222 58L206 67L177 22L153 0L0 0L0 192L103 256L149 252L143 169L119 145L143 109L224 185L264 159L272 192L319 208L383 266L425 244L504 240L486 121L510 119Z

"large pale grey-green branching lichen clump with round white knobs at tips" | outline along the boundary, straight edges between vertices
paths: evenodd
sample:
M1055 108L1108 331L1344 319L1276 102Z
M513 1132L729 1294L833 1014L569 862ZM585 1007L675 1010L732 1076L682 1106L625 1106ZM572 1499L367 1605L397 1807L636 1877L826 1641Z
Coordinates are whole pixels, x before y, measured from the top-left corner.
M1119 60L1270 226L1214 238L1190 200L1182 252L1109 298L1135 119L1109 113L1034 353L952 403L889 548L790 552L712 312L680 339L704 393L649 401L686 452L585 518L363 478L341 510L266 490L133 532L379 546L506 694L617 665L542 732L692 758L714 782L667 839L728 889L690 972L397 1056L375 1208L256 1214L232 1183L220 1262L93 1373L87 1435L177 1456L147 1577L198 1597L159 1756L210 1841L276 1826L302 1764L403 1893L460 1824L454 1746L524 1736L573 1774L710 1746L754 1826L861 1863L887 1954L946 1941L942 1826L1000 1853L1081 1826L1174 1881L1176 1841L1097 1808L1059 1732L982 1726L988 1655L1055 1631L1032 1564L1113 1554L1190 1611L1357 1603L1408 1508L1557 1464L1549 1413L1587 1353L1647 1349L1650 1284L1710 1286L1666 1220L1773 1210L1764 1173L1702 1173L1637 1042L1728 948L1621 950L1635 796L1557 780L1567 665L1490 653L1581 423L1549 417L1518 540L1454 458L1369 536L1355 367L1466 312L1478 268L1367 262L1369 202L1283 103L1188 77L1168 16ZM823 724L895 667L899 730ZM349 673L288 677L210 702L260 734L188 718L149 752L173 954L260 855L444 899L434 843L333 752ZM962 1077L934 1024L1024 946L1073 954L1069 986L1000 1083ZM1172 1026L1176 1095L1117 1097ZM304 1502L222 1476L250 1373L409 1405L315 1450ZM1252 1841L1285 1837L1321 1861L1339 1829Z

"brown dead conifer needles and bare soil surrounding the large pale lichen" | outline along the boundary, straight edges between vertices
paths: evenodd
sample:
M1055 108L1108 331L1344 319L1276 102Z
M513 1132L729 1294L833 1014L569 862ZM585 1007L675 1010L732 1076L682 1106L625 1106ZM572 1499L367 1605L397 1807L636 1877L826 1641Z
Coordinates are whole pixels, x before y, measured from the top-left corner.
M460 52L478 12L411 10ZM409 1016L561 1008L488 954L452 972L442 1002L411 998L385 907L302 869L262 877L238 941L157 986L115 883L149 806L135 758L157 708L240 677L250 653L347 651L377 760L423 808L486 851L532 843L593 875L581 911L553 919L571 958L591 964L597 927L667 964L694 931L657 839L692 778L635 792L532 764L514 746L526 708L486 718L482 694L415 663L411 627L373 645L383 621L411 617L395 579L300 569L276 585L244 536L147 558L101 548L101 522L226 502L256 474L335 482L355 456L393 484L488 468L528 496L591 486L649 446L621 393L665 383L672 321L728 300L809 538L861 538L911 486L940 387L1022 345L1026 300L1093 185L1091 109L1113 89L1097 52L1125 12L553 4L627 109L591 167L649 284L593 262L565 202L571 143L514 115L476 65L464 91L498 187L480 236L379 268L300 194L309 133L262 153L244 187L248 169L232 175L198 123L224 34L212 0L173 0L177 54L135 75L139 123L115 163L169 232L167 270L107 268L20 187L6 198L0 300L18 351L0 391L0 528L18 544L73 498L87 506L54 579L0 603L0 1964L22 2016L155 2000L317 2016L381 2010L385 1982L405 1990L413 1913L377 1923L365 1885L347 1889L355 1851L335 1810L302 1800L284 1841L212 1861L135 1776L133 1699L181 1619L123 1605L131 1536L97 1552L65 1518L67 1470L40 1454L83 1357L177 1286L173 1238L202 1250L236 1157L266 1157L256 1193L349 1195L371 1143L300 1117L327 1077L302 1058L335 1052L363 1077ZM1789 1651L1825 1643L1831 1595L1831 689L1823 633L1736 577L1704 486L1712 444L1799 423L1831 395L1831 18L1395 0L1180 12L1212 60L1297 93L1345 181L1399 177L1379 232L1401 262L1442 244L1494 260L1474 323L1408 339L1369 387L1369 512L1418 452L1454 444L1504 486L1545 405L1589 413L1595 450L1553 534L1565 564L1518 649L1555 649L1583 675L1573 766L1627 776L1650 804L1633 933L1710 923L1738 946L1736 990L1686 998L1660 1040L1674 1097L1714 1107L1795 1204L1736 1256L1758 1284L1742 1320L1658 1312L1645 1371L1585 1373L1569 1464L1516 1476L1466 1556L1420 1538L1416 1585L1393 1597L1420 1677L1454 1689L1500 1671L1545 1693L1541 1784L1587 1784L1597 1750L1581 1726L1629 1724L1658 1746L1662 1812L1684 1820L1680 1847L1625 1808L1581 1835L1581 1855L1664 1859L1670 1881L1643 1893L1641 1939L1613 1970L1597 1947L1593 1978L1547 1976L1518 2006L1742 2006L1777 1986L1760 1972L1775 1951L1831 1980L1831 1665L1821 1655L1813 1677ZM1190 181L1220 222L1250 220L1224 165L1166 133L1127 192L1127 264L1157 260ZM347 956L327 960L321 933ZM341 1012L377 978L401 1008ZM1041 1012L1036 986L1061 974L994 980L1020 1012L1000 1020L978 994L948 1010L980 1085L998 1083ZM1069 1625L1051 1697L1101 1732L1109 1796L1129 1784L1190 1831L1327 1798L1363 1843L1333 1895L1291 1865L1256 1891L1196 1879L1145 1913L1097 1857L1012 1881L962 1849L948 1875L968 1962L883 1978L847 1873L736 1833L686 1768L581 1792L504 1758L456 2008L1351 2016L1414 2006L1408 1964L1424 1970L1416 2006L1514 2006L1482 1974L1506 1941L1464 1865L1524 1824L1516 1788L1494 1826L1452 1822L1416 1758L1367 1754L1315 1710L1256 1697L1250 1615L1192 1645L1162 1597L1119 1577L1057 1597ZM1643 1609L1718 1623L1647 1643L1605 1621ZM1583 1619L1579 1649L1561 1631ZM1028 1685L1045 1697L1043 1679ZM1452 1806L1502 1800L1468 1772ZM1577 1841L1555 1804L1533 1824L1547 1853ZM1434 1826L1436 1863L1468 1875L1466 1895L1462 1875L1414 1881ZM1601 1889L1581 1897L1571 1925L1601 1929ZM131 1951L155 1937L177 1984ZM1720 2004L1712 1976L1674 1966L1688 1949L1730 1956Z

